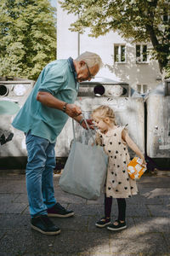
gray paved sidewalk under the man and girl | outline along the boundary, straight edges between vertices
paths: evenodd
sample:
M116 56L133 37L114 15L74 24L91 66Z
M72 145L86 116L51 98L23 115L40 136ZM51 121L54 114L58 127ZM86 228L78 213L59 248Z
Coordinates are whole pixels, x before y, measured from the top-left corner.
M103 196L87 201L61 191L54 177L55 195L72 218L53 218L61 233L45 236L31 230L24 174L0 172L0 256L143 256L170 255L170 177L144 176L139 195L127 199L127 230L95 227L104 215ZM116 200L112 207L116 218Z

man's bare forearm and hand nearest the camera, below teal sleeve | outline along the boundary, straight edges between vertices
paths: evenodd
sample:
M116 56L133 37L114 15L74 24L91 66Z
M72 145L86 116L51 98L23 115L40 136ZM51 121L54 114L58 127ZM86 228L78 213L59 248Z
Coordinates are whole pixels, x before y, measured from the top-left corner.
M37 101L41 102L43 105L48 106L48 108L56 108L63 110L65 102L56 99L52 94L46 91L38 91ZM81 108L76 104L67 104L65 108L65 113L68 114L71 118L76 119L81 113ZM79 119L82 119L81 117ZM78 120L77 120L78 121Z

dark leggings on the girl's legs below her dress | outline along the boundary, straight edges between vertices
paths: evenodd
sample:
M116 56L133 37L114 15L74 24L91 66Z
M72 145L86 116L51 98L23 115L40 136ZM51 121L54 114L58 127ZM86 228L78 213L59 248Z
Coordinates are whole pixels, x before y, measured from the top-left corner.
M126 217L126 200L125 198L116 198L118 205L118 220L125 221ZM105 218L111 218L112 197L105 195Z

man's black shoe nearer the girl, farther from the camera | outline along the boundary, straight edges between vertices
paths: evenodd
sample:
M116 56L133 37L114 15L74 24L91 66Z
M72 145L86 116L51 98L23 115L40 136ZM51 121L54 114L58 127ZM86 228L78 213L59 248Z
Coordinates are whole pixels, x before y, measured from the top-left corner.
M74 215L73 211L67 211L64 207L62 207L59 203L56 203L54 207L48 209L49 217L60 217L67 218Z

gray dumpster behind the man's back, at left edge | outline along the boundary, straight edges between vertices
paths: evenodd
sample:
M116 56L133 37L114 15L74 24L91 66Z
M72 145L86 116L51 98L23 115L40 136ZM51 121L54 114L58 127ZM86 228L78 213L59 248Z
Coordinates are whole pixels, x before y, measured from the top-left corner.
M0 158L26 156L25 136L11 122L26 102L34 85L32 80L0 80Z

